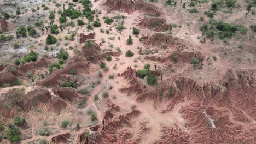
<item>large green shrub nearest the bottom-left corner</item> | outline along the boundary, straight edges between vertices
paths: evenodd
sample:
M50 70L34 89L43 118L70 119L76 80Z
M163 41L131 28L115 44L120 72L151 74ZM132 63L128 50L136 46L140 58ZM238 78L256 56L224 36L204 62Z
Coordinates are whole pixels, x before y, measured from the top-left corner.
M11 142L17 142L20 140L20 129L15 125L8 125L8 129L4 131L4 139L8 139Z

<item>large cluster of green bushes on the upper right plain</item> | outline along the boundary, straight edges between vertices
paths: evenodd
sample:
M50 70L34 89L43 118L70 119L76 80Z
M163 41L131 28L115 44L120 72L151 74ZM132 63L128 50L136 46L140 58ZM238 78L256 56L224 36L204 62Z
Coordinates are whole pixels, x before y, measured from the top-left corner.
M218 35L219 39L231 38L237 31L242 34L247 33L247 28L244 26L234 26L230 23L211 19L208 24L204 24L200 27L200 30L207 38L212 38L214 35Z

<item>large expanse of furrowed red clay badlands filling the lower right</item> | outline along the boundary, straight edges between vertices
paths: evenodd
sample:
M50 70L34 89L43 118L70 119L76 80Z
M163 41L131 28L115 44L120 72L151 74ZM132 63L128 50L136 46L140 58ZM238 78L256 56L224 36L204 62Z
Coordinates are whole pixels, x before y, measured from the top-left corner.
M188 138L185 131L179 132L183 136L177 140L175 133L167 132L170 128L164 128L162 140L156 143L171 139L183 143L256 143L255 74L255 70L228 70L223 80L204 85L185 77L167 80L170 84L165 84L161 98L168 106L162 112L185 102L179 112L190 133ZM172 97L167 91L171 88Z

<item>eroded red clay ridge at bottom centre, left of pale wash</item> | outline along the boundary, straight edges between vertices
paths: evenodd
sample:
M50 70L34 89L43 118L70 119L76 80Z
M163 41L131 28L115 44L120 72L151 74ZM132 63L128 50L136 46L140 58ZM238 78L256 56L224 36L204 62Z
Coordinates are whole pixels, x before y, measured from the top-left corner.
M138 143L139 137L133 137L133 132L128 128L132 127L131 120L139 115L140 111L132 110L130 113L114 115L111 112L105 113L103 128L92 133L85 143ZM111 116L108 116L111 115Z

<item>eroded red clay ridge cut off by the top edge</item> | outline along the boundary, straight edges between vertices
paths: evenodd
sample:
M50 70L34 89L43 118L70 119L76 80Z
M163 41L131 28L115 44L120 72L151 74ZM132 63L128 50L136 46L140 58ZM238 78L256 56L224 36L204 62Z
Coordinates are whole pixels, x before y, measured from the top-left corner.
M161 11L153 4L143 1L126 1L126 0L107 0L104 5L107 5L109 10L119 10L131 14L135 10L142 11L143 13L160 16Z

